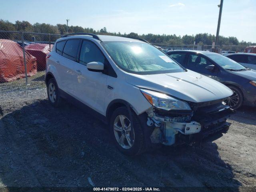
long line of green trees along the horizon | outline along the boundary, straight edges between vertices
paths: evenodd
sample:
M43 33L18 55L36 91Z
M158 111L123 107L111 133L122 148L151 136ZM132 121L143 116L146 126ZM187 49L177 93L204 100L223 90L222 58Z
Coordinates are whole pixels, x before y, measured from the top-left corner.
M8 22L7 20L0 19L0 30L10 30L10 31L24 31L24 32L38 32L38 33L50 33L50 34L66 34L66 24L57 24L56 26L45 24L45 23L35 23L30 24L27 21L16 21L15 24ZM176 36L174 35L166 35L166 34L142 34L138 35L137 33L131 32L130 34L121 34L120 32L108 32L106 27L96 31L93 28L82 28L81 26L68 26L69 33L94 33L94 34L104 34L104 35L116 35L116 36L128 36L128 37L136 37L143 38L148 42L155 44L171 44L171 45L192 45L194 41L196 44L200 45L212 45L212 42L215 41L215 36L208 33L200 33L194 35L184 35L184 36ZM252 42L239 42L236 37L224 37L219 36L218 45L238 45L238 46L248 46L248 45L256 45L256 43Z

